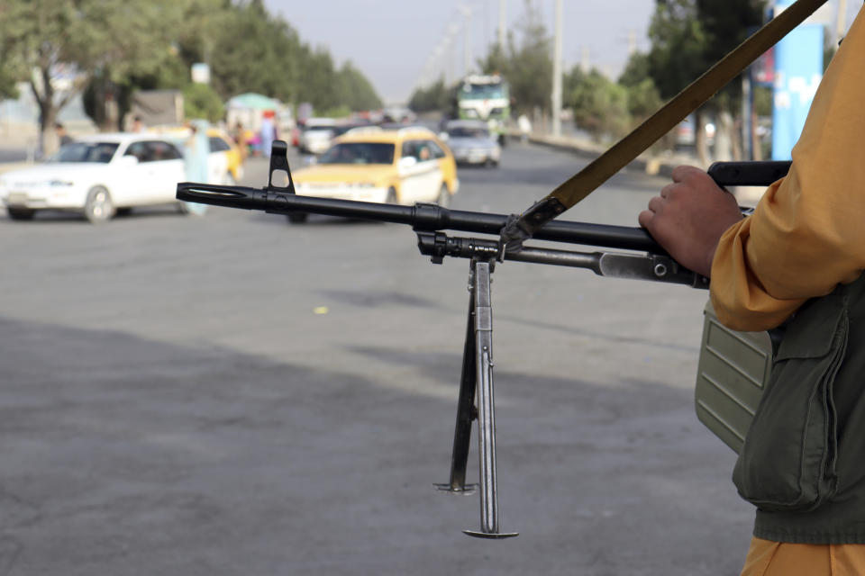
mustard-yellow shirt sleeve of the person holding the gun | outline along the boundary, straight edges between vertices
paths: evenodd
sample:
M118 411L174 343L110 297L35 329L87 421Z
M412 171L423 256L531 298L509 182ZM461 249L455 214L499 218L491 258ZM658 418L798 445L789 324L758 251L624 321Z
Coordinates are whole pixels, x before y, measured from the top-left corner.
M775 328L865 269L863 13L817 89L789 174L718 243L710 297L731 329Z

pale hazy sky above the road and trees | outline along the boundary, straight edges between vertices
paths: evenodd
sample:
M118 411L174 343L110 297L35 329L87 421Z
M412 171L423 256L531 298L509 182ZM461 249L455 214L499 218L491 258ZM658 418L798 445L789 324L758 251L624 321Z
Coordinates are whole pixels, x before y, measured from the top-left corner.
M508 29L524 19L525 0L265 0L312 46L326 47L337 65L358 67L386 103L405 103L424 80L461 76L465 62L465 23L459 7L471 11L472 61L496 40L499 5ZM554 0L534 0L547 30L553 31ZM567 70L587 63L618 76L629 49L649 49L646 31L655 0L563 0L562 60ZM836 14L838 0L830 0ZM847 0L849 25L860 0ZM449 28L454 31L447 42ZM442 46L438 58L435 49ZM444 48L445 46L450 48ZM450 79L450 76L449 76Z

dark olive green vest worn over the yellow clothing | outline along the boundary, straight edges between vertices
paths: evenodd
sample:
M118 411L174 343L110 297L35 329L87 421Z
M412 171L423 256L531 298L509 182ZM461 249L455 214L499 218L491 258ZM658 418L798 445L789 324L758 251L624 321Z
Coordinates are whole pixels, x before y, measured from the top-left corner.
M754 536L865 544L865 275L784 326L733 471Z

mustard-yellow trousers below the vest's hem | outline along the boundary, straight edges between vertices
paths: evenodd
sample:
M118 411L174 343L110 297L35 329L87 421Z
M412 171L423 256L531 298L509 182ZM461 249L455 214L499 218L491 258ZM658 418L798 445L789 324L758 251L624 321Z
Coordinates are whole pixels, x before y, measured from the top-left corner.
M862 576L865 545L785 544L751 538L742 576Z

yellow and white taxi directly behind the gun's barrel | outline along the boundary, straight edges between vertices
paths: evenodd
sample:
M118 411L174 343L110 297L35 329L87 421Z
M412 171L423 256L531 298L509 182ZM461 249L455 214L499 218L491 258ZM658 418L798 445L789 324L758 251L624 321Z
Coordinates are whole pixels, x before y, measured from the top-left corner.
M349 130L314 166L292 176L300 195L362 202L447 206L460 188L451 150L432 130L417 127ZM288 214L288 220L303 222L306 214Z

